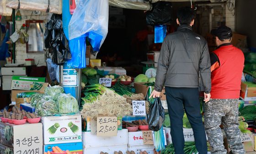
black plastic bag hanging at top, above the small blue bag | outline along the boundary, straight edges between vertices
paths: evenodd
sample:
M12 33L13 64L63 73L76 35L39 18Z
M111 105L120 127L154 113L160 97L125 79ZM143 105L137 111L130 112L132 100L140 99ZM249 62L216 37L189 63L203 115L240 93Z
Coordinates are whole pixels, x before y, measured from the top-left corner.
M153 9L147 12L147 25L168 25L171 23L171 2L159 1L152 4Z

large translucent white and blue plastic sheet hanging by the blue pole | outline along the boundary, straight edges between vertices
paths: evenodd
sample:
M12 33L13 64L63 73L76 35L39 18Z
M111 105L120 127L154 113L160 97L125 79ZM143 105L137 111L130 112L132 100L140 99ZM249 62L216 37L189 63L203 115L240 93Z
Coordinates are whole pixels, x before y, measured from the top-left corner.
M107 36L108 0L79 0L69 22L69 40L90 38L94 51L99 51Z

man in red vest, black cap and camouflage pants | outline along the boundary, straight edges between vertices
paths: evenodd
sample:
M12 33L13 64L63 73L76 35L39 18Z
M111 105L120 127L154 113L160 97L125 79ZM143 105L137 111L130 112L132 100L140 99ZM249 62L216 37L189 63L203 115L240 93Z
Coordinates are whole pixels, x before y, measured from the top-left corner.
M223 145L221 124L224 126L231 149L229 154L245 154L240 139L238 122L238 99L244 66L243 52L233 46L232 30L221 26L211 31L216 38L218 49L211 53L212 99L205 103L204 126L212 154L226 154Z

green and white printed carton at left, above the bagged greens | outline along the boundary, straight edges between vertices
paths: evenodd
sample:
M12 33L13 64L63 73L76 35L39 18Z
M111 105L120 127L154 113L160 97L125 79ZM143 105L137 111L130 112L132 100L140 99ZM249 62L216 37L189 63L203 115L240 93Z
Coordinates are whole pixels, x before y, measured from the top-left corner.
M45 78L12 76L11 89L40 90L45 83Z

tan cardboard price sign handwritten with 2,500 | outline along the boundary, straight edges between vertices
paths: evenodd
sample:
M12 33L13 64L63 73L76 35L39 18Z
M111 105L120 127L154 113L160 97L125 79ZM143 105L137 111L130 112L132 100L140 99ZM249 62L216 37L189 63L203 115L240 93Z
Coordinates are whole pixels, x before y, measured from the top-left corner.
M117 136L117 117L97 117L97 136Z

